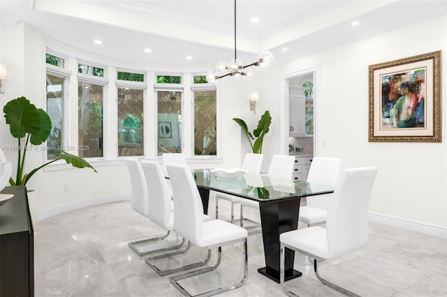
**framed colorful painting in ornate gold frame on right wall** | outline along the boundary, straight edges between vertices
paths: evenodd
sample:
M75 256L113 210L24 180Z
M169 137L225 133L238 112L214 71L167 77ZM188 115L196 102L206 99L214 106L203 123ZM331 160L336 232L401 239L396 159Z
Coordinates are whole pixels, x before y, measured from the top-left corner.
M441 51L369 66L369 142L441 142Z

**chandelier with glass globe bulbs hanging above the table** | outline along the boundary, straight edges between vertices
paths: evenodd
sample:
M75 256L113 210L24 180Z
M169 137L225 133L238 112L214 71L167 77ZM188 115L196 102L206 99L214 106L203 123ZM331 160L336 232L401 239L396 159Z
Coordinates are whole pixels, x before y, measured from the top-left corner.
M233 77L245 77L251 79L254 73L251 69L247 69L250 66L254 66L256 70L265 70L268 66L272 65L273 54L271 52L262 52L258 54L258 61L244 66L242 61L237 59L236 50L236 0L235 0L235 59L230 62L219 61L216 65L216 70L208 71L206 78L210 84L216 84L217 79L221 79L226 76Z

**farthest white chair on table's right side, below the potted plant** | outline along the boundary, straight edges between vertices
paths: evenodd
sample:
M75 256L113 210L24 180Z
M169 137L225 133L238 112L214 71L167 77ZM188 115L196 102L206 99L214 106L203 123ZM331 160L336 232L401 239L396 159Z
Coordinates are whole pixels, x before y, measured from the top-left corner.
M241 169L247 170L251 174L260 174L261 166L263 165L264 155L262 153L247 153L242 162ZM235 220L235 204L239 204L241 201L240 197L229 195L226 193L217 192L216 193L216 218L219 218L219 200L223 199L230 201L231 206L231 217L230 222L234 223Z

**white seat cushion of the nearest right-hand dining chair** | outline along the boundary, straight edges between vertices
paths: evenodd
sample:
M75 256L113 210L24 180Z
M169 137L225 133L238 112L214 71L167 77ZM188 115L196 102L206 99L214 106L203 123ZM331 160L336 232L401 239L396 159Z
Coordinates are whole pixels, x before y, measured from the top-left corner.
M330 257L328 236L326 236L326 229L322 227L309 227L287 231L279 235L279 241L292 246L294 250L298 250L303 254L323 259Z

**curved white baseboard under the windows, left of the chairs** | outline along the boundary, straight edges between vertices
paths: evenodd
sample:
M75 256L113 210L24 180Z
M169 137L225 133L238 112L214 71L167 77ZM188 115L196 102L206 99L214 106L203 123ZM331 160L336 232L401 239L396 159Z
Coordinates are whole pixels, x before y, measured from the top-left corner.
M75 211L76 209L80 209L80 208L85 208L85 207L94 206L94 205L98 205L98 204L106 204L106 203L111 203L111 202L126 201L126 200L130 200L130 199L131 199L131 195L118 195L118 196L112 196L112 197L101 197L101 198L73 202L71 204L57 206L57 207L51 208L47 211L38 213L37 221L45 220L47 218L51 218L54 215L60 215L61 213L66 213L68 211Z

